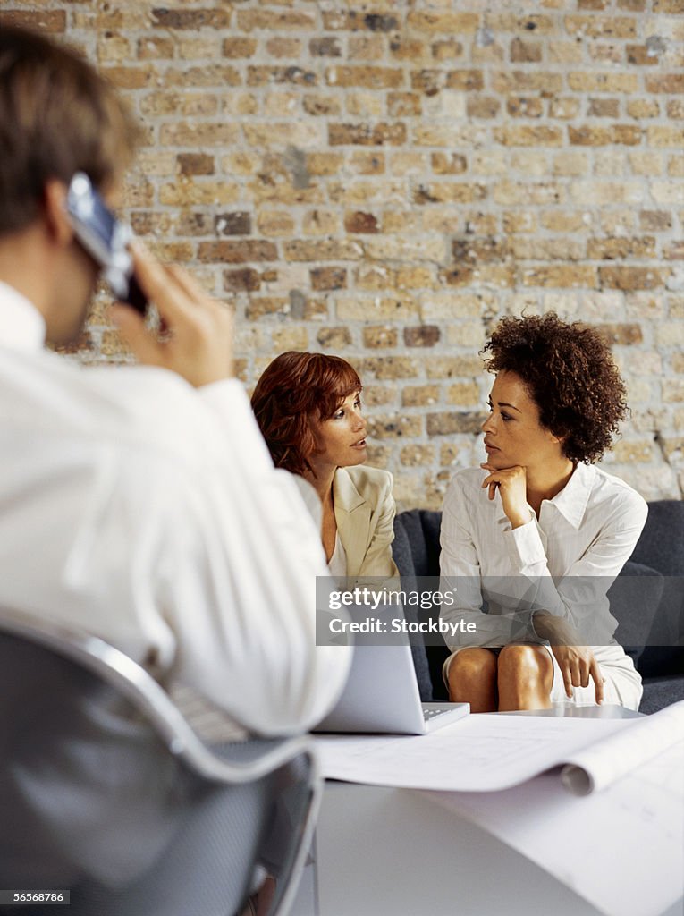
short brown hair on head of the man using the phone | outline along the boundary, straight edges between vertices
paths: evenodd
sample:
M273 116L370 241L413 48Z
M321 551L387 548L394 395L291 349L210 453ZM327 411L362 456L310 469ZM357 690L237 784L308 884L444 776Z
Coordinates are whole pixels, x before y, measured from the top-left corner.
M114 88L71 49L0 27L0 237L31 224L50 179L114 187L137 128Z

